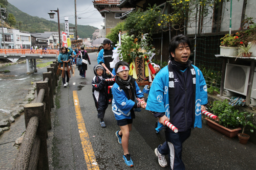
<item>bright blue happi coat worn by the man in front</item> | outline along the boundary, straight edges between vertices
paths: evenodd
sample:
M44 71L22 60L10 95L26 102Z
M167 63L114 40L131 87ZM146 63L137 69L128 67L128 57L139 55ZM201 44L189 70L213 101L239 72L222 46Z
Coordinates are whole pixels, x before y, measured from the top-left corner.
M195 123L194 128L202 128L202 118L201 118L201 105L205 105L208 103L207 99L207 86L203 77L201 70L195 65L192 65L196 71L196 103L195 103ZM150 94L147 99L146 110L154 111L154 112L164 112L165 115L170 118L169 112L169 74L168 74L168 66L162 68L157 76L155 77ZM159 130L163 127L162 124L158 123Z

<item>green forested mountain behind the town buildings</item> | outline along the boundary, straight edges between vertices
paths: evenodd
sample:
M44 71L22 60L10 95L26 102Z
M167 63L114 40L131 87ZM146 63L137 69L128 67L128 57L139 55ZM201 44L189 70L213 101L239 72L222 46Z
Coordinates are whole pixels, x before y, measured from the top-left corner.
M12 13L16 19L15 29L19 29L19 21L22 22L20 30L28 31L30 33L44 33L45 31L58 31L58 22L50 21L37 16L31 16L25 12L20 11L10 3L7 6L8 13ZM70 27L75 27L72 23L69 23ZM77 25L77 35L80 38L92 38L92 34L98 28L92 26ZM60 31L63 30L63 24L60 23Z

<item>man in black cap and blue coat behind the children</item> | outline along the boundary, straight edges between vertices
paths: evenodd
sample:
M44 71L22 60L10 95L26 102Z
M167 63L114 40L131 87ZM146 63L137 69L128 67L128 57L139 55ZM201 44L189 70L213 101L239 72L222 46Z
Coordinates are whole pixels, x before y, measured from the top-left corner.
M113 51L114 48L111 45L111 41L109 39L104 39L104 41L101 43L103 45L103 49L99 52L97 61L98 64L101 64L102 66L105 65L106 68L108 68L111 72L113 68L110 68L110 62L113 61L112 56L113 56Z

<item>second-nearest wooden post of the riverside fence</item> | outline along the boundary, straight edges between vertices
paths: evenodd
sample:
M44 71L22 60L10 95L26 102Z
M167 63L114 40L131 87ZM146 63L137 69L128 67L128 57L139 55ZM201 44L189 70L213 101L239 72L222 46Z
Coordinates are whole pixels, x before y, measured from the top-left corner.
M48 82L45 82L45 81L44 82L36 82L37 94L39 93L41 88L45 89L45 95L44 95L43 102L46 103L45 115L46 115L47 129L50 130L50 129L52 129L52 123L51 123L51 104L50 104L50 99L49 99Z

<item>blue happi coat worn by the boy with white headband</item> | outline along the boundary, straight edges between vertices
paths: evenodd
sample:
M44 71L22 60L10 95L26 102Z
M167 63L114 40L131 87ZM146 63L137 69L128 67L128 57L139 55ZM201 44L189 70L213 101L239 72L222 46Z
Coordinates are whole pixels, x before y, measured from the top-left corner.
M144 97L143 92L140 90L138 84L136 82L136 95L138 98ZM125 92L120 89L119 85L115 83L112 87L112 94L113 94L113 100L112 100L112 111L114 112L116 120L121 119L131 119L131 109L133 109L133 106L135 105L135 102L133 100L128 100Z

